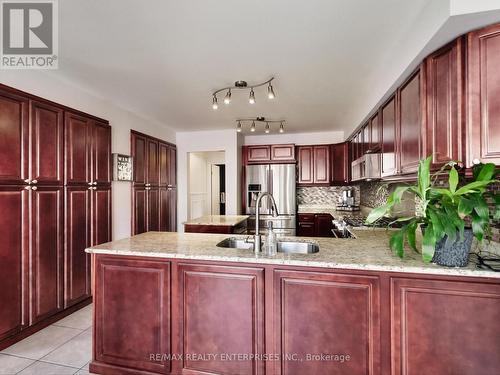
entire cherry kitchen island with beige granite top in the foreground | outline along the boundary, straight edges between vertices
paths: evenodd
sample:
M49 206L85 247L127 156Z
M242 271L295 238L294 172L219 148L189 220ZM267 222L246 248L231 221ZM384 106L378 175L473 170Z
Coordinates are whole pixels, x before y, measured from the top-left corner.
M100 374L498 374L500 275L401 260L380 230L315 254L149 232L88 249ZM245 236L240 236L245 238ZM296 240L296 239L295 239Z

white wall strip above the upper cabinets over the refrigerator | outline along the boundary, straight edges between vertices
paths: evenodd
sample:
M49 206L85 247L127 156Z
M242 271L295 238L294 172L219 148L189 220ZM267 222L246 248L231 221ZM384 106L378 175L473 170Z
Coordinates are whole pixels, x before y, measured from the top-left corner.
M269 145L280 143L294 143L296 145L317 145L338 143L343 141L343 131L245 135L243 140L245 145Z

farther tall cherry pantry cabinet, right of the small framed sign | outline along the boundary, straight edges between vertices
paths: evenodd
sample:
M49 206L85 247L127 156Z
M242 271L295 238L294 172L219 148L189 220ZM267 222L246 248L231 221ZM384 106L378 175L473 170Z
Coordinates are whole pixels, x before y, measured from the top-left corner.
M177 230L177 149L175 145L131 131L134 160L132 233Z

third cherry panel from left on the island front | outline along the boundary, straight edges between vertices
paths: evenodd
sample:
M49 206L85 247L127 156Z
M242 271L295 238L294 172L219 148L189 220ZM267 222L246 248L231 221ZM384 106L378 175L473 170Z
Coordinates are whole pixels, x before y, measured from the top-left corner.
M380 374L379 290L377 277L275 271L275 373Z

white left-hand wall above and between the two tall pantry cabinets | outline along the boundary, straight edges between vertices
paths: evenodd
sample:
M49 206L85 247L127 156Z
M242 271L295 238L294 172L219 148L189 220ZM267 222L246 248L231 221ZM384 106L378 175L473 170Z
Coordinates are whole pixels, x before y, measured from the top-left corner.
M130 154L130 129L175 143L175 133L165 125L117 107L48 72L4 70L0 73L0 82L108 120L112 126L113 153ZM132 210L130 182L113 182L112 196L113 240L129 237Z

